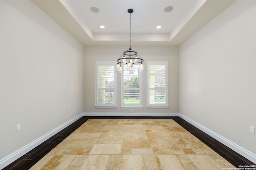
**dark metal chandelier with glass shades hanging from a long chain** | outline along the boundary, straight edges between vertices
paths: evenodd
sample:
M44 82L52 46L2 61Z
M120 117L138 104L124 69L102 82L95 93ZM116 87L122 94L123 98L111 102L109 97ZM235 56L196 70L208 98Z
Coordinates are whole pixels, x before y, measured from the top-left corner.
M133 9L129 9L128 12L130 13L130 48L117 59L116 64L116 72L123 72L122 66L124 64L127 64L127 71L129 71L130 74L133 74L133 64L140 64L140 73L144 72L144 66L143 66L143 59L138 55L136 51L134 51L131 48L131 14L133 12Z

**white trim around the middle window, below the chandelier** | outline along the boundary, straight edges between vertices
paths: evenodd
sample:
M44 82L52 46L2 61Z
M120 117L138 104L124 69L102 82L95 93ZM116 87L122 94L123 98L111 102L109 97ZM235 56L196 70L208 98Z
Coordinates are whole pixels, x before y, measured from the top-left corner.
M142 78L142 73L140 73L140 105L124 105L124 86L123 86L123 80L124 80L124 72L122 72L122 76L121 76L121 108L122 109L142 109L142 82L143 82L143 78Z

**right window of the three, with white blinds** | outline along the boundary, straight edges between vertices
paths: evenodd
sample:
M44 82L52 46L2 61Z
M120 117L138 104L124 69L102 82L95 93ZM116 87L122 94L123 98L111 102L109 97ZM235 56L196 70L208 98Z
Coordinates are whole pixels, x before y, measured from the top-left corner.
M147 69L147 107L168 108L168 61L148 61Z

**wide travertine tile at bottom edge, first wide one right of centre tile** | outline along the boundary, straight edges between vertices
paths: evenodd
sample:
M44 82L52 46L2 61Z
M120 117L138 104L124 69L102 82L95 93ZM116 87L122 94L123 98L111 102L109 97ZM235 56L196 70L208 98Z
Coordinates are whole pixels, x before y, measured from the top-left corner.
M173 154L157 154L156 162L159 170L185 170L178 158Z

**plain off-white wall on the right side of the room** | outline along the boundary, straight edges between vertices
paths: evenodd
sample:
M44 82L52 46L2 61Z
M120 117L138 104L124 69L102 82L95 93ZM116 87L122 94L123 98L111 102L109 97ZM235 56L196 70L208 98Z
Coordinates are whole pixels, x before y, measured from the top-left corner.
M179 47L180 113L254 154L255 5L234 2Z

